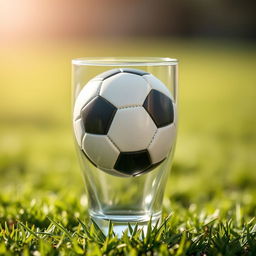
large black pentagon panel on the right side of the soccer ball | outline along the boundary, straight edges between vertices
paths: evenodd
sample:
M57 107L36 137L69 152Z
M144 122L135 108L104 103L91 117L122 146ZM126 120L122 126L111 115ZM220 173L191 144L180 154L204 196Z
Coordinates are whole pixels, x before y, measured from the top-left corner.
M172 100L157 90L151 90L143 107L152 117L158 128L171 124L174 120Z

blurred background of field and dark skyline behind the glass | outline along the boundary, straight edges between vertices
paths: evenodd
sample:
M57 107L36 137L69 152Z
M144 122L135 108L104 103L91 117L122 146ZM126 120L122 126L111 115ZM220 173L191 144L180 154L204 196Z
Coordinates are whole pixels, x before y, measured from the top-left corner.
M72 141L72 58L160 56L180 60L166 209L239 203L254 216L255 42L250 0L0 0L1 202L86 200Z

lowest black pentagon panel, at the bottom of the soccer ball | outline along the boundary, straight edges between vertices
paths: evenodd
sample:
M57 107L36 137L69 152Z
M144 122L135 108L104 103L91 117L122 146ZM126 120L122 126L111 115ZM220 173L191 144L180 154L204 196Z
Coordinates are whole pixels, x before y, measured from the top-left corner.
M136 175L149 168L150 165L151 160L147 150L121 152L114 169L124 174Z

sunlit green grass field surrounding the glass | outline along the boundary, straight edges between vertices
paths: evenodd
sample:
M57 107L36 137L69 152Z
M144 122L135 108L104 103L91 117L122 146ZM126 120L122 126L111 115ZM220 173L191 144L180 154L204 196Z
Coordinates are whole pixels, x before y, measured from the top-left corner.
M86 55L180 59L165 221L147 234L105 236L88 217L69 106L70 59ZM230 42L2 48L0 255L256 255L255 59Z

